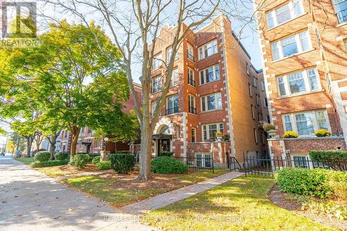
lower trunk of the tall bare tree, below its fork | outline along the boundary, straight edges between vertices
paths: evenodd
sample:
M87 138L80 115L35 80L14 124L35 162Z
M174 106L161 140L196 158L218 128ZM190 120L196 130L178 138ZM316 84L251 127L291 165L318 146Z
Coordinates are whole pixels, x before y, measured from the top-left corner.
M138 180L149 180L151 177L151 144L152 131L149 125L149 118L144 119L141 129L141 154L139 157Z

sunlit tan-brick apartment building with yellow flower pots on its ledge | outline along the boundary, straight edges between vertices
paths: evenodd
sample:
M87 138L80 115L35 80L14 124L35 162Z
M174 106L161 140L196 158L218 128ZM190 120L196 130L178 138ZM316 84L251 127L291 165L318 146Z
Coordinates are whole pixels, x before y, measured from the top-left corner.
M271 156L302 160L347 141L347 1L260 1L258 30L270 120ZM331 137L315 137L323 128ZM294 130L296 139L284 139Z

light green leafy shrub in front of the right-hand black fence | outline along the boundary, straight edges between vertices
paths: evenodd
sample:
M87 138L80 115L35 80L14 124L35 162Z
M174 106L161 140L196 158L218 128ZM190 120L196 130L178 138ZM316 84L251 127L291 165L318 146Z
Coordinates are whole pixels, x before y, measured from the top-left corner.
M328 170L283 168L278 170L276 180L282 191L292 194L329 198L333 189L329 184Z

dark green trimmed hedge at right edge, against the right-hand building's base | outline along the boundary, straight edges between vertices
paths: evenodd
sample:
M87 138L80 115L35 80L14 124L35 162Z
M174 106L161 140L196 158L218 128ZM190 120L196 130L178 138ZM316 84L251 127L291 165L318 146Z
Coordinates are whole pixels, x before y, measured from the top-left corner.
M347 170L347 151L310 151L310 157L330 166L331 169Z

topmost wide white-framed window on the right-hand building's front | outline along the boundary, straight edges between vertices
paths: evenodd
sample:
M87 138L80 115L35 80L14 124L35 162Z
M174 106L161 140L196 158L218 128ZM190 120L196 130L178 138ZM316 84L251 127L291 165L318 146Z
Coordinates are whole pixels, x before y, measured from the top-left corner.
M284 24L291 19L303 15L303 13L303 3L301 0L289 1L289 3L286 3L275 10L271 10L266 14L267 27L270 29L280 24Z

